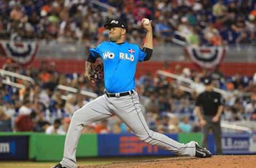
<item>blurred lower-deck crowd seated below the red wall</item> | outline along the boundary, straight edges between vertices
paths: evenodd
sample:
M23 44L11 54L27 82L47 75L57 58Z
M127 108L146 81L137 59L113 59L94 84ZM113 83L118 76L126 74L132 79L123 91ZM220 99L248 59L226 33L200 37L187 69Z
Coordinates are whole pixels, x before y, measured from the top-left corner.
M98 95L103 94L103 82L92 83L83 75L61 74L55 70L54 62L42 61L38 69L22 69L15 63L6 63L5 70L27 75L35 83L18 78L0 76L2 79L17 82L25 87L17 89L0 83L0 131L37 131L65 134L71 116L92 98L82 95L79 90L87 90ZM169 71L166 63L165 71ZM201 83L209 72L190 70L175 66L180 77L193 80L192 91L184 91L178 86L187 87L182 80L164 78L157 74L145 74L137 80L137 91L146 121L153 130L163 133L196 132L198 124L195 98L204 88ZM226 90L232 95L225 96L225 110L222 120L253 121L256 120L256 75L254 78L234 75L226 78L218 70L211 73L214 86ZM58 85L78 89L70 93L58 89ZM129 129L117 117L87 125L83 133L123 133Z

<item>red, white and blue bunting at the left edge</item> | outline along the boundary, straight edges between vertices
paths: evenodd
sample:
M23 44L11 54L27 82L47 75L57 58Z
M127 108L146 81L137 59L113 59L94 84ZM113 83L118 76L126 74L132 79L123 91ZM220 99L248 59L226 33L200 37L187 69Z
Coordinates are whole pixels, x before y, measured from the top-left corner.
M0 49L7 58L10 58L14 62L28 65L33 61L38 45L35 42L16 43L14 41L1 41Z

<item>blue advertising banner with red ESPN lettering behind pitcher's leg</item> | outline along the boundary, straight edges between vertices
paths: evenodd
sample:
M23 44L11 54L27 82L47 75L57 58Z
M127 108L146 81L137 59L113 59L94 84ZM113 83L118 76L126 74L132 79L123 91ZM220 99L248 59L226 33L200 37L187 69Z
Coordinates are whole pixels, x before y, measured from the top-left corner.
M178 140L177 135L167 135ZM146 144L137 136L132 134L120 135L98 135L98 154L99 156L160 156L173 155L173 153Z

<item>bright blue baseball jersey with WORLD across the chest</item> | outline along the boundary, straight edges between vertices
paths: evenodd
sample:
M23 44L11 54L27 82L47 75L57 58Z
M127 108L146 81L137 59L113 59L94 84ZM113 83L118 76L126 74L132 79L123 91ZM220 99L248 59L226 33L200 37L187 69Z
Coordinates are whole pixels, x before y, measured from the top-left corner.
M91 54L101 57L104 66L105 88L109 93L121 93L135 89L135 71L137 62L146 57L137 44L116 44L104 41L96 48L90 48Z

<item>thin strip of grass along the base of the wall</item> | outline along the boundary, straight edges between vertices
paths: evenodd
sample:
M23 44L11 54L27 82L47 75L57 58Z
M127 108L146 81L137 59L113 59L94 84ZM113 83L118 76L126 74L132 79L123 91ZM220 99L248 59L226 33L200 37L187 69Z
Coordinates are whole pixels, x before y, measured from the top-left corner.
M143 161L148 159L164 158L164 157L119 157L119 158L84 158L78 159L78 165L93 165L93 164L108 164L113 162L130 162L130 161ZM0 168L50 168L58 162L30 162L30 161L9 161L0 162Z

